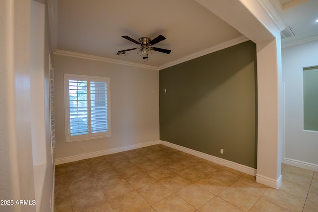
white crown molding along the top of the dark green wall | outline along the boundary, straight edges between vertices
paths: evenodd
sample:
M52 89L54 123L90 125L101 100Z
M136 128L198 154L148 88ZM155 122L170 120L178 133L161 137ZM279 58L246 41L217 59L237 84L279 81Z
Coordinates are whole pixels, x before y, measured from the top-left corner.
M189 60L192 60L192 59L194 59L194 58L201 57L201 56L203 56L203 55L210 54L210 53L212 53L212 52L219 51L219 50L221 50L221 49L225 49L225 48L228 48L228 47L231 47L231 46L234 46L234 45L243 43L243 42L245 42L245 41L249 41L249 39L248 39L247 37L245 37L244 35L239 36L239 37L234 38L234 39L232 39L232 40L223 42L223 43L221 43L221 44L218 44L218 45L209 47L209 48L207 48L207 49L201 50L201 51L199 51L199 52L193 53L193 54L191 54L191 55L185 56L185 57L183 57L183 58L180 58L180 59L177 59L177 60L175 60L175 61L169 62L169 63L164 64L164 65L162 65L162 66L159 66L159 70L165 69L165 68L168 68L168 67L171 67L171 66L174 66L174 65L177 65L177 64L180 64L180 63L189 61Z

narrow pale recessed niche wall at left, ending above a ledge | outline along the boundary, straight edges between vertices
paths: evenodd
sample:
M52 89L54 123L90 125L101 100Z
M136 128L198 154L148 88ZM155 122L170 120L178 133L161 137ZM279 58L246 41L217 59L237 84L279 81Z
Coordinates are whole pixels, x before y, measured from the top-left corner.
M46 163L44 107L45 5L31 1L30 77L33 165Z

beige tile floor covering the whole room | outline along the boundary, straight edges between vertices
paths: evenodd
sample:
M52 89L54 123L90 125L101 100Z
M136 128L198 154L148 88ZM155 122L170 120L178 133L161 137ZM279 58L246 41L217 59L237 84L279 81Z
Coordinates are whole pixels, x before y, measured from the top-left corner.
M318 172L282 166L276 190L154 145L57 165L55 212L318 212Z

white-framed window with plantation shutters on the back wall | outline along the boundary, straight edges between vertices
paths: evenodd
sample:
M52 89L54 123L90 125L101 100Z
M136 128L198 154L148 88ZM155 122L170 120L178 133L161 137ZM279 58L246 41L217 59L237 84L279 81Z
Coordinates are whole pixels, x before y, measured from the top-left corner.
M66 142L111 136L110 78L64 74Z

